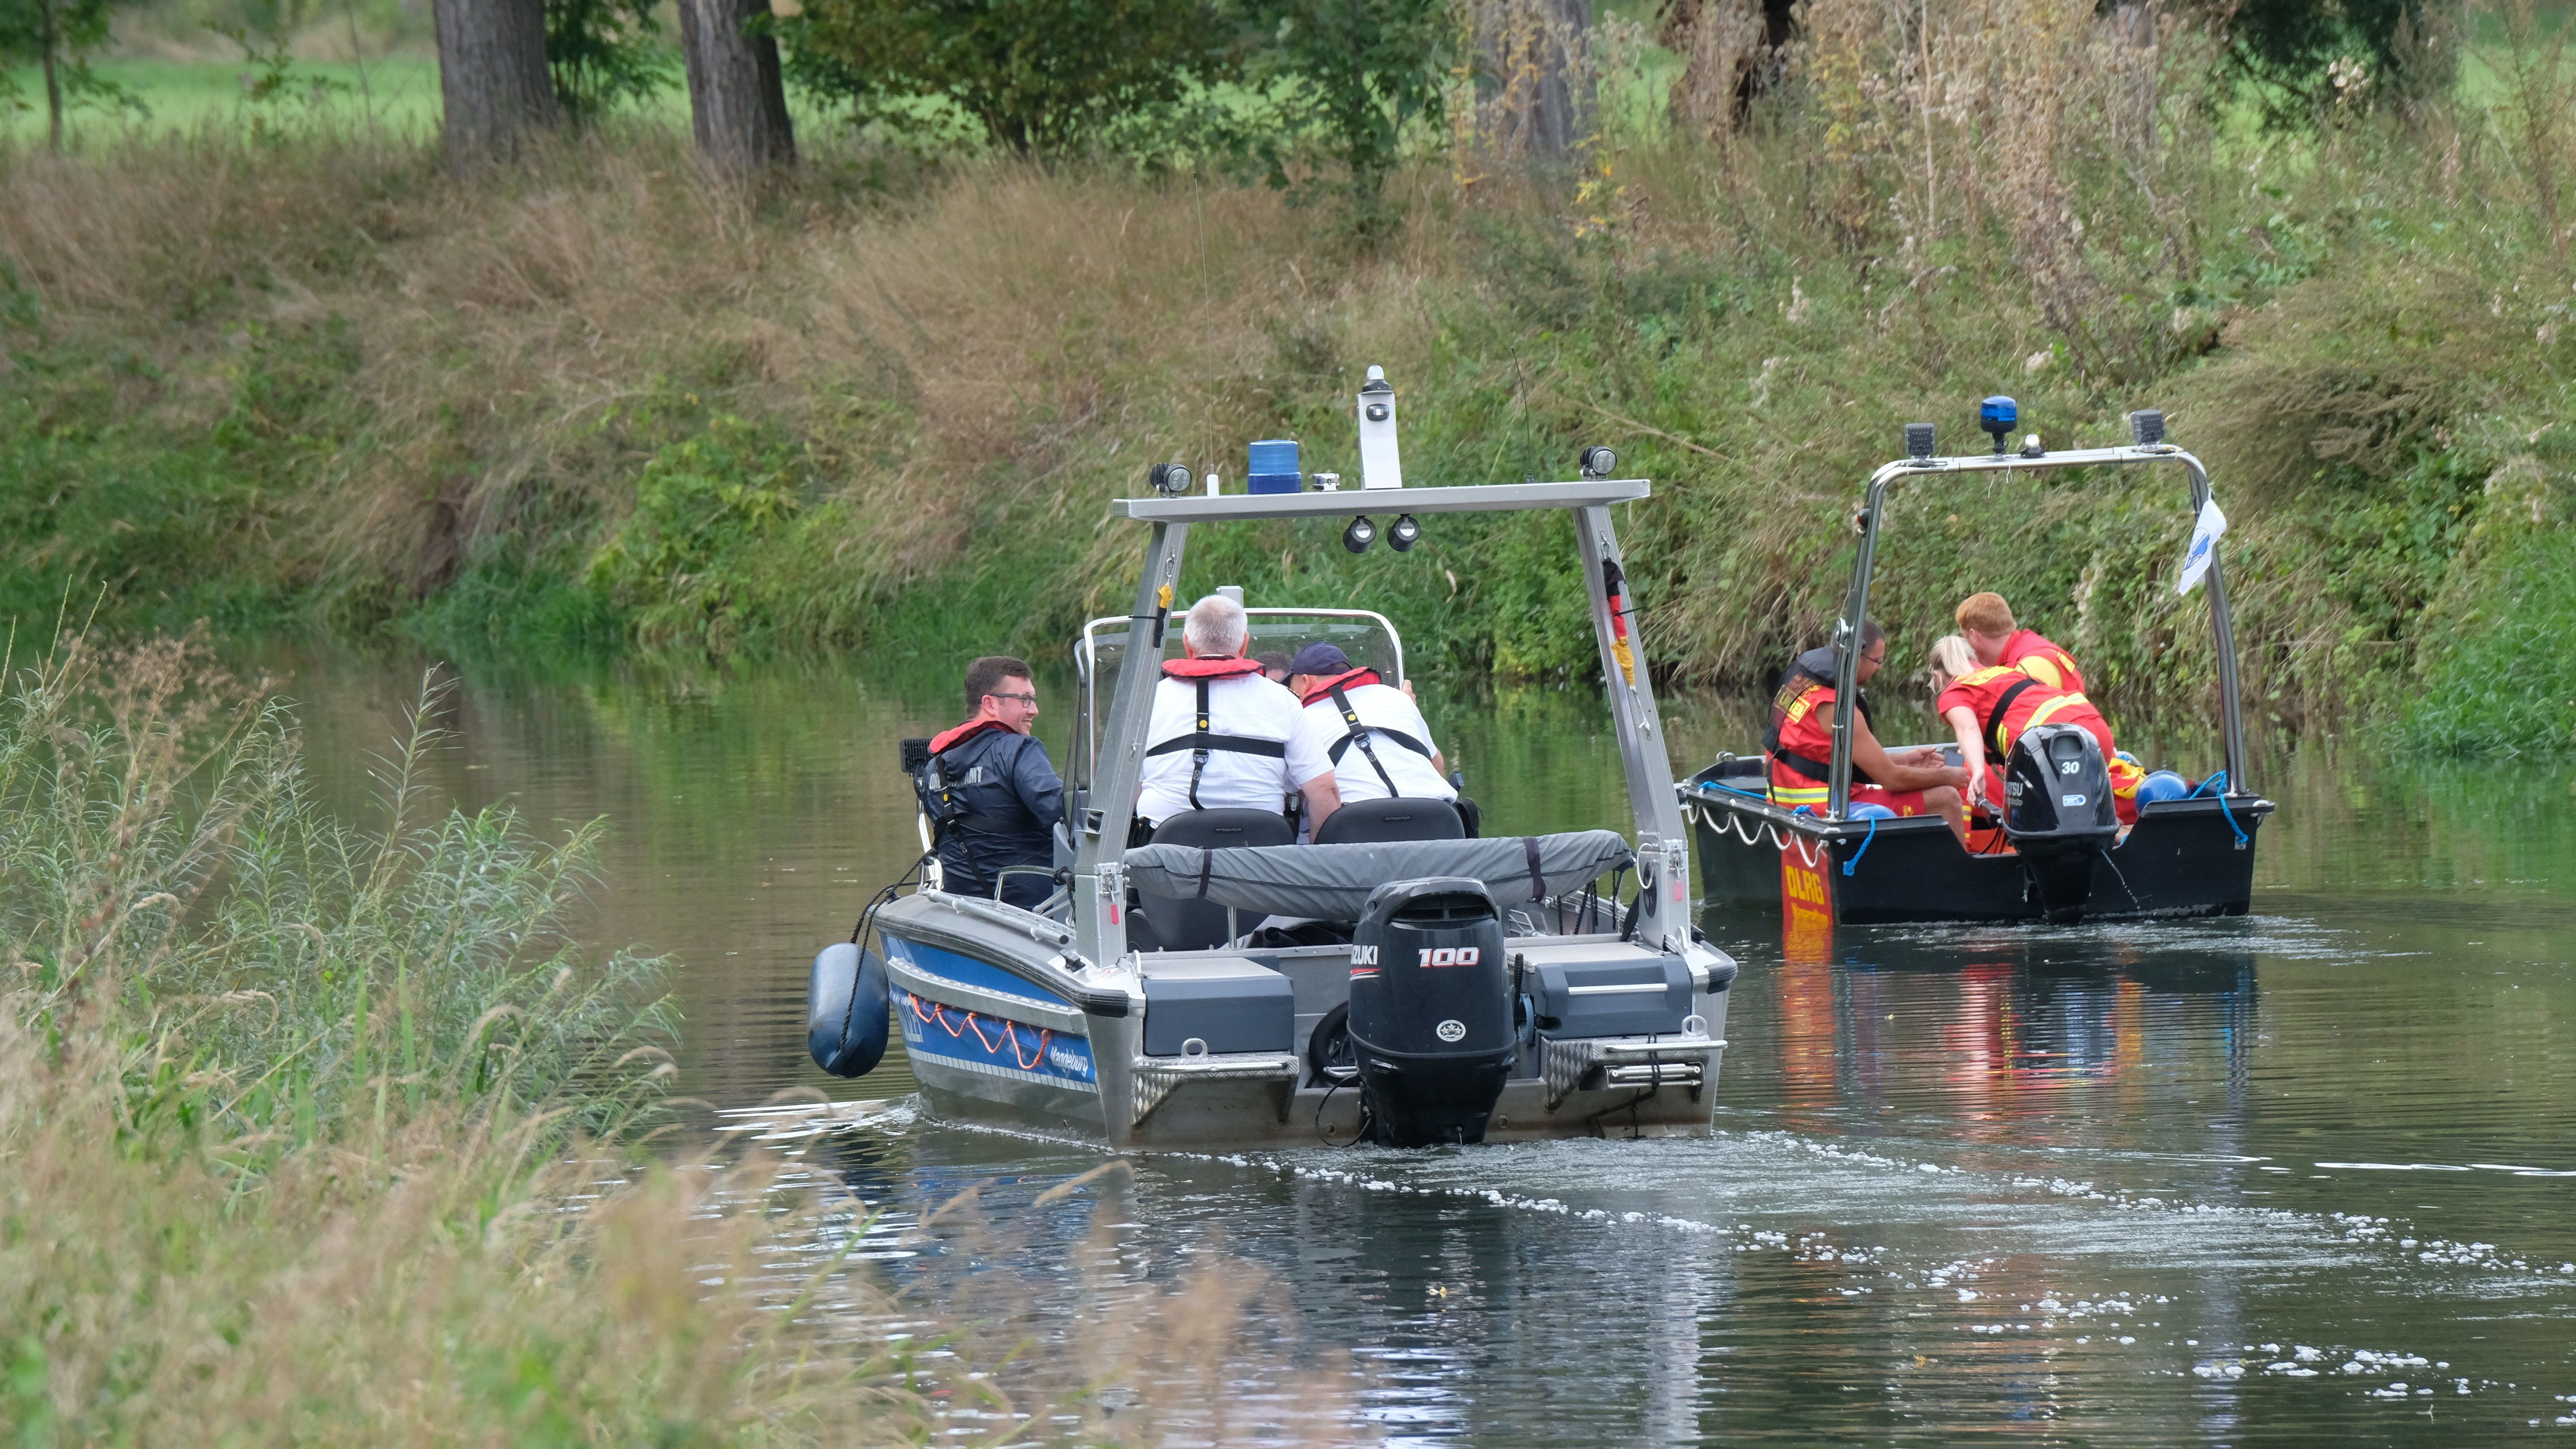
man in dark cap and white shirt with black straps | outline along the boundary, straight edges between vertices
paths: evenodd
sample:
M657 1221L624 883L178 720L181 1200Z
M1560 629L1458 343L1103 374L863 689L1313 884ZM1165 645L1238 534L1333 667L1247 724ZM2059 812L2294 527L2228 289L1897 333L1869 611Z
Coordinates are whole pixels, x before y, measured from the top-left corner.
M1288 768L1316 830L1360 799L1458 799L1422 712L1378 670L1355 670L1340 647L1319 642L1288 660L1288 688L1306 701Z

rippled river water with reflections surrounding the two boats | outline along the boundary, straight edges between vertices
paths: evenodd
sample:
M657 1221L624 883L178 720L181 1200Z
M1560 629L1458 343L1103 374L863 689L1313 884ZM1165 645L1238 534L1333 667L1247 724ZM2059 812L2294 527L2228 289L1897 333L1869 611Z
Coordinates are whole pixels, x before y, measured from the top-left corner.
M363 815L425 660L263 663ZM1327 1372L1327 1439L2576 1444L2566 766L2259 743L2280 815L2241 920L1842 931L1790 964L1775 920L1710 918L1744 972L1705 1142L1149 1155L1038 1201L1103 1158L933 1122L899 1047L858 1083L804 1055L806 962L912 859L896 740L951 691L477 665L433 771L536 825L605 815L585 931L672 957L680 1091L719 1132L781 1091L881 1104L799 1168L889 1243L981 1186L979 1266L1041 1343L1226 1261L1267 1289L1224 1397ZM1623 825L1589 694L1427 714L1497 828ZM1667 717L1687 771L1752 706ZM1077 1240L1105 1263L1079 1292Z

